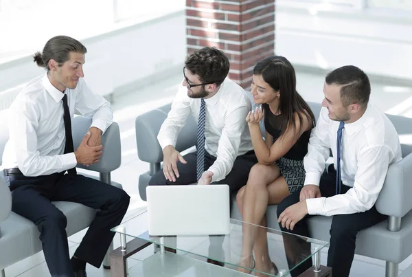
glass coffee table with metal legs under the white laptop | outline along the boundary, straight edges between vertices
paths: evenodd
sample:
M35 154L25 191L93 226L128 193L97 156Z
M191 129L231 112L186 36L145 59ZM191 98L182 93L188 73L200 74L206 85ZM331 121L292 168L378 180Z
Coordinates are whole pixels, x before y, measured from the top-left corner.
M267 247L275 271L264 272L252 264L249 267L238 265L242 228L266 233L263 247ZM236 219L231 219L230 233L225 236L150 236L148 213L144 208L112 231L119 233L121 238L121 246L110 254L112 277L246 277L251 276L249 273L255 276L332 276L330 267L320 265L321 250L328 247L328 242ZM149 245L155 245L153 254L127 269L126 259Z

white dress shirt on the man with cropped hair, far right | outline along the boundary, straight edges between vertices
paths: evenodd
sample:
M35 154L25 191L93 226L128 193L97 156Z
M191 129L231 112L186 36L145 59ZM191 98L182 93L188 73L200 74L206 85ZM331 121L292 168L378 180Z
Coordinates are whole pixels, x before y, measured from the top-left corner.
M304 157L305 185L319 186L330 149L336 169L336 139L339 121L330 120L323 107ZM341 179L350 186L345 194L306 199L309 214L332 216L365 212L374 206L388 166L402 159L398 133L385 113L368 104L363 116L345 124L342 133ZM335 183L329 184L335 186Z

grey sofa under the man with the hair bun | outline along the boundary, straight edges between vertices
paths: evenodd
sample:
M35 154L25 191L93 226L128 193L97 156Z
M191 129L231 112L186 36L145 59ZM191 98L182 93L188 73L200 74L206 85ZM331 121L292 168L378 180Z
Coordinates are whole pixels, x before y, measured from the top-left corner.
M91 125L90 118L78 116L73 119L73 144L76 149L84 134ZM0 164L5 142L8 140L8 129L0 128ZM121 164L121 148L119 126L113 122L102 136L103 155L98 164L89 167L78 164L78 168L93 170L100 173L100 179L108 184L122 188L122 185L111 181L111 172ZM84 175L84 174L83 174ZM12 195L3 181L3 170L0 171L0 277L5 276L5 267L30 257L42 250L36 225L11 211ZM95 217L95 210L79 203L57 201L53 202L67 217L67 236L89 227ZM113 250L113 243L108 252ZM110 267L108 254L104 258L104 268Z

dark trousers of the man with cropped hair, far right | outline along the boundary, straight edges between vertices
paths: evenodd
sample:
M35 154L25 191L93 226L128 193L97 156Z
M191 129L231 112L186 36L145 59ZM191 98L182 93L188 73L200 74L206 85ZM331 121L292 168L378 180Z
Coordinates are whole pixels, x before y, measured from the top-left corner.
M322 197L332 197L336 193L336 171L333 165L329 167L328 174L321 176L319 184ZM350 187L342 185L341 193L344 194ZM286 197L277 206L277 217L286 208L299 202L300 190ZM301 236L310 237L307 220L310 215L307 215L299 221L293 231L280 228L282 231L299 234ZM350 274L350 267L355 254L356 234L359 231L369 228L376 223L386 219L387 217L380 214L375 206L366 212L357 212L355 214L336 214L332 219L332 226L330 228L330 247L328 252L328 267L332 267L334 277L348 277ZM292 250L294 251L294 250ZM300 250L302 251L302 250ZM303 250L306 251L306 250ZM298 250L299 252L299 250ZM294 266L294 265L293 265ZM302 272L312 266L312 260L306 261L299 266L296 271L292 272L292 276L299 276Z

